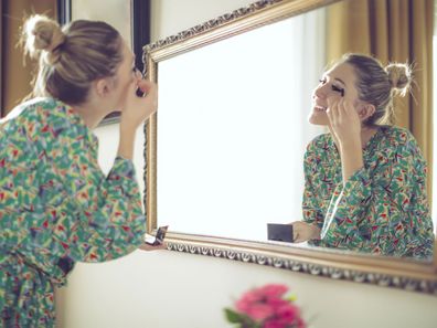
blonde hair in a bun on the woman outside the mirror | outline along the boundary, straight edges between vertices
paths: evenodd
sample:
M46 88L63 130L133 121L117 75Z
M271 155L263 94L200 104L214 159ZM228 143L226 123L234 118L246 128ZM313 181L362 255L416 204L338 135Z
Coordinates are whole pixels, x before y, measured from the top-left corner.
M114 76L122 61L121 38L105 22L77 20L61 29L44 15L23 27L25 53L39 59L33 96L51 96L68 105L86 102L93 81Z

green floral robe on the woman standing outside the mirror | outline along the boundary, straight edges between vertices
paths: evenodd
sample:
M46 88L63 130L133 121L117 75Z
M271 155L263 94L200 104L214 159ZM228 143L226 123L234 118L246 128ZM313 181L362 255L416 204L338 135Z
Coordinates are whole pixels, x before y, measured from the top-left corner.
M142 243L146 219L130 160L105 177L97 138L64 104L36 98L0 121L0 327L54 327L54 285L75 261Z

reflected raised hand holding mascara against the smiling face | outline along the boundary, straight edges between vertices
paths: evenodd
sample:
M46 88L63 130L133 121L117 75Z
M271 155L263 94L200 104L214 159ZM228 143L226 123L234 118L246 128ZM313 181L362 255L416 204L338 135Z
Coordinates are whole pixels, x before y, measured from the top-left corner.
M331 131L340 146L348 142L361 145L361 119L355 107L344 98L328 98L327 115Z

